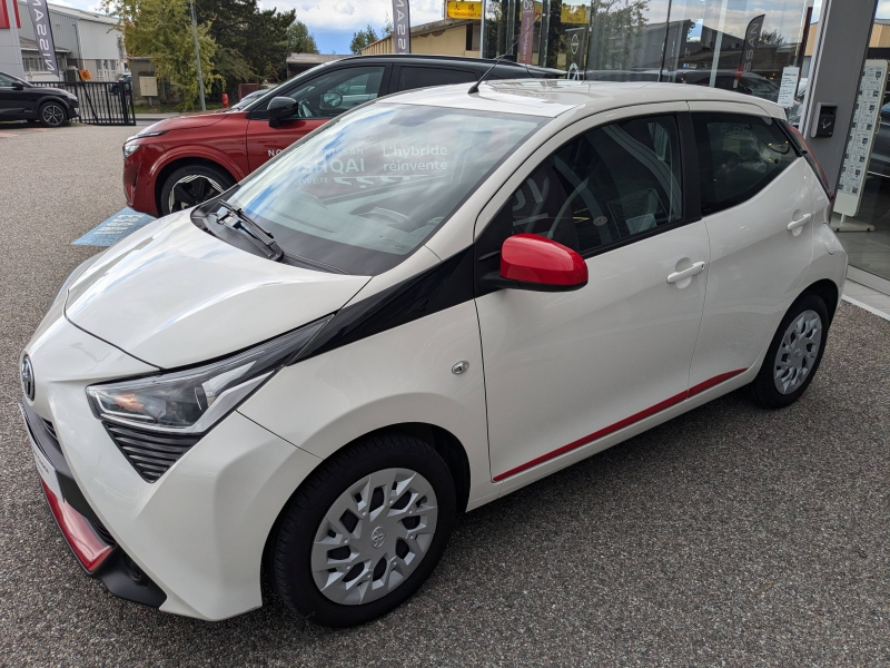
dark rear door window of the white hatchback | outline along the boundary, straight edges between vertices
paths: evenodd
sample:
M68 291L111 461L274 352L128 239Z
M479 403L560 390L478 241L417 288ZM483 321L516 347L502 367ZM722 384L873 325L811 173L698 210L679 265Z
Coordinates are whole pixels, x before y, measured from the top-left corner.
M693 114L692 118L705 216L750 199L798 158L773 119L743 114Z

